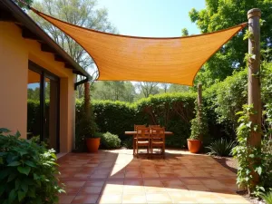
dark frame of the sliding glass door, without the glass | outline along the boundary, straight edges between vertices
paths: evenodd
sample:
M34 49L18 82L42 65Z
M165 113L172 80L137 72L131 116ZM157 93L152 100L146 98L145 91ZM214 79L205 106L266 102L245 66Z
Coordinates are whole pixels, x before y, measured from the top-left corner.
M56 145L57 148L55 151L60 151L60 78L49 72L48 70L44 69L44 67L32 62L28 61L28 69L40 74L40 110L41 110L41 117L40 117L40 126L41 126L41 133L40 133L40 141L44 141L45 139L45 78L53 80L57 82L57 125L56 125Z

